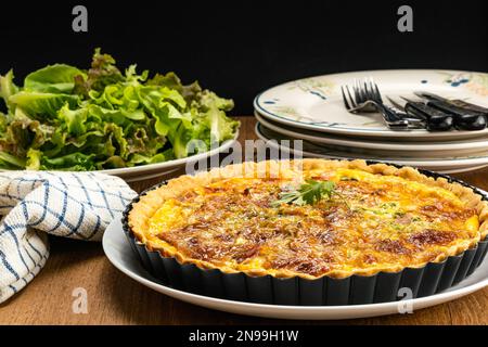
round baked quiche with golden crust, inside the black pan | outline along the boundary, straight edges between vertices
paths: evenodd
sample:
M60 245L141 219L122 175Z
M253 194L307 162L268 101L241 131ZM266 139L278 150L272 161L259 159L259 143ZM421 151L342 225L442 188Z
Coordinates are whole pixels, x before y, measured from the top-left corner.
M326 194L305 192L306 182ZM341 279L420 268L476 246L488 233L488 204L410 167L268 160L170 180L142 195L127 221L150 250L180 264Z

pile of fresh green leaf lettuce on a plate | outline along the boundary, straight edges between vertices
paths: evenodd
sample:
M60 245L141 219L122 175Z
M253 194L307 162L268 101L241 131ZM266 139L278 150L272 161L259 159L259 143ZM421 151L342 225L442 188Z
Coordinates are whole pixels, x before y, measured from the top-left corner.
M239 127L231 100L174 73L123 73L97 49L89 69L54 64L15 86L0 76L0 168L97 170L209 151ZM197 145L195 145L195 143Z

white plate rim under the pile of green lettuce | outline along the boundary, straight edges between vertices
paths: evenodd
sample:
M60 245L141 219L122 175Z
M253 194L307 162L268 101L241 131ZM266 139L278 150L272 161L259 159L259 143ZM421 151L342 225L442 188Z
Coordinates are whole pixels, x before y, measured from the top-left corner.
M181 170L184 169L187 164L196 163L198 160L205 159L207 157L211 157L218 155L219 153L226 153L229 149L235 143L239 137L239 131L235 133L233 140L224 141L220 144L220 146L215 147L208 152L195 154L185 158L168 160L156 164L141 165L128 168L118 168L118 169L107 169L107 170L95 170L93 172L113 175L123 178L127 182L137 182L149 180L153 178L162 178L169 179L178 174L181 174ZM5 170L0 170L5 171Z

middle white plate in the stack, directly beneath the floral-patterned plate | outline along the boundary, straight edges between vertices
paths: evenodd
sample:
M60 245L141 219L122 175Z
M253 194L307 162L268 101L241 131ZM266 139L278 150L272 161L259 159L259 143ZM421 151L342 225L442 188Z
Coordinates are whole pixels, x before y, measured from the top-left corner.
M408 152L425 156L425 153L432 154L468 154L480 151L488 151L488 138L470 139L463 141L444 141L444 142L394 142L394 141L365 141L364 139L350 139L337 137L330 133L323 133L307 129L299 129L282 125L262 117L255 112L256 118L268 129L291 138L298 138L314 143L329 145L338 145L351 149L367 149L388 152ZM418 153L412 153L418 152Z

